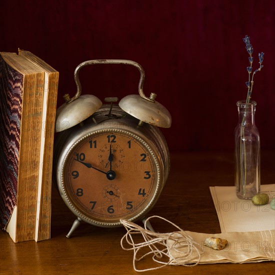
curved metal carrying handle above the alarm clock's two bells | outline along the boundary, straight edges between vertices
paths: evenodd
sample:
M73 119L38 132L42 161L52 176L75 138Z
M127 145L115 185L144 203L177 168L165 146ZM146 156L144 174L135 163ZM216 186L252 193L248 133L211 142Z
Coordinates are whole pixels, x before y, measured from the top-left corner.
M75 95L72 98L70 98L70 100L67 103L75 100L81 94L81 83L79 81L79 76L78 76L79 70L84 66L95 65L95 64L125 64L125 65L132 65L132 66L136 67L140 72L140 78L139 78L139 83L138 83L139 95L148 101L154 102L153 97L151 97L151 96L147 97L147 96L145 96L145 94L143 92L143 82L144 82L144 78L145 78L145 72L144 72L143 68L138 63L131 61L131 60L124 60L124 59L95 59L95 60L84 61L84 62L80 63L75 68L74 80L75 80L75 84L77 87L77 91L76 91Z

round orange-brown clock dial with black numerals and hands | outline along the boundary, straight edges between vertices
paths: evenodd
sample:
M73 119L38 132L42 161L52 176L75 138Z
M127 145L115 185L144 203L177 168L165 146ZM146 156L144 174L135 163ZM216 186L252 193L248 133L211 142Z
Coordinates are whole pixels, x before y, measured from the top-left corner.
M152 149L124 130L85 135L70 148L62 169L61 185L70 208L103 226L145 213L159 188Z

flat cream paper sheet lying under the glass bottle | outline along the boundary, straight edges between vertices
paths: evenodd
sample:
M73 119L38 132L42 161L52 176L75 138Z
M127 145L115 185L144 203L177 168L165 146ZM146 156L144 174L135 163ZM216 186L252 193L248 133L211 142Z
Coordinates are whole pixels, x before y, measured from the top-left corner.
M275 210L269 203L254 205L250 199L239 199L235 186L210 186L220 230L224 232L252 232L275 229ZM260 186L270 200L275 196L275 184Z

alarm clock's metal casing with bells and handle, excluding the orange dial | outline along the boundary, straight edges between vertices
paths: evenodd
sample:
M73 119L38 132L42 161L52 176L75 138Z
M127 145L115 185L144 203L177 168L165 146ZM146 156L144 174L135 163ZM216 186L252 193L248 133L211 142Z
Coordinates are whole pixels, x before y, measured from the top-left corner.
M105 101L111 104L102 105L102 102L94 95L80 95L79 70L84 66L96 64L125 64L136 67L140 73L139 95L127 95L119 101L118 105L112 103L117 101L117 98L113 100L115 97L105 98ZM81 220L103 227L121 225L120 222L97 222L83 215L67 196L63 182L64 164L70 150L82 138L91 136L95 132L123 131L139 139L150 151L157 168L157 186L149 203L135 216L130 217L130 220L144 217L155 204L164 187L170 170L170 158L165 138L158 127L170 127L171 115L163 105L155 101L155 93L150 93L149 97L144 94L144 77L145 73L140 64L124 59L87 60L80 63L74 70L76 93L72 98L65 94L63 96L65 103L56 110L55 131L60 133L55 139L53 160L53 181L68 208L77 216L67 237L70 237Z

